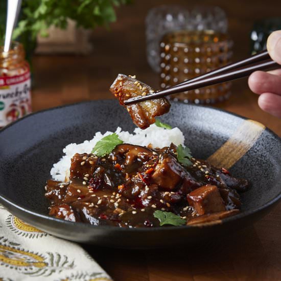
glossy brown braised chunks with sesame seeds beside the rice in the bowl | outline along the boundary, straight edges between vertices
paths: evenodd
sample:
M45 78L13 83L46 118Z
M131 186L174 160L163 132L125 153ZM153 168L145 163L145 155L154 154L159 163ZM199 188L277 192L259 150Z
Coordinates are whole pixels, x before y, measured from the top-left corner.
M119 227L160 226L155 211L189 225L237 214L237 191L245 191L248 182L204 160L190 160L183 166L173 144L162 149L121 144L103 157L77 153L68 182L47 182L49 214Z

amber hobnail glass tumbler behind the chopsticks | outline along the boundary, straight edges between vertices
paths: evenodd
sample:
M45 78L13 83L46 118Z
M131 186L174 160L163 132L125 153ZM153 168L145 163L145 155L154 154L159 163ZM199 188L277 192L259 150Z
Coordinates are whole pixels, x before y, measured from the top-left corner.
M164 89L230 62L232 41L227 35L208 31L180 30L160 42L160 87ZM230 83L207 86L171 95L185 103L210 104L230 96Z

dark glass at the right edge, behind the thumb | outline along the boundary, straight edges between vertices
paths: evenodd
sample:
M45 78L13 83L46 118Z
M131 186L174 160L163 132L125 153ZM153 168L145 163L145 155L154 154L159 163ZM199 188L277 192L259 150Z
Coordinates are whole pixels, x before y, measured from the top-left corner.
M267 38L275 30L281 29L281 17L272 17L255 22L251 31L251 54L266 50Z

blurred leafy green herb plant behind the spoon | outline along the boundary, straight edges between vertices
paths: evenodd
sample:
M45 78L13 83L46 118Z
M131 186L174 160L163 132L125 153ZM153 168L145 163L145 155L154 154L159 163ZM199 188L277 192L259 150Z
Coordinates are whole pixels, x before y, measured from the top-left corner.
M0 37L3 41L7 4L0 4ZM47 29L55 26L61 29L67 27L67 19L76 21L78 27L95 29L98 26L109 27L116 20L115 7L129 4L131 0L22 0L18 25L13 38L18 36L31 37L35 40L37 34L48 36Z

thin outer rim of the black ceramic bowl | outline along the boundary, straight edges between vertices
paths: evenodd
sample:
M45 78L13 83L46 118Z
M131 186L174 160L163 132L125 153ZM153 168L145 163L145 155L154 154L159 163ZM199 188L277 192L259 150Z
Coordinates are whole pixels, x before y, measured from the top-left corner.
M64 108L64 107L76 106L76 105L79 105L79 104L95 103L95 102L98 102L98 101L103 101L103 102L110 101L111 102L111 101L114 101L114 100L113 99L107 99L107 100L83 101L83 102L72 103L72 104L61 105L61 106L57 106L57 107L39 110L39 111L30 113L30 114L20 118L19 120L5 126L3 129L0 130L0 134L3 131L5 131L6 129L13 126L14 124L16 124L18 122L21 122L22 120L24 120L26 118L29 118L29 116L40 114L40 113L45 112L45 111L52 111L52 110L56 110L56 109L60 109L60 108ZM116 102L118 102L118 101L116 101ZM170 103L177 104L178 102L170 101ZM241 116L241 115L236 114L236 113L228 112L228 111L223 110L221 108L215 108L215 107L212 107L212 106L199 105L199 104L185 104L185 105L186 106L192 106L192 107L208 108L208 109L215 110L215 111L221 111L225 114L236 116L236 117L244 119L244 120L248 119L248 118L245 118L244 116ZM275 136L281 142L281 138L276 133L274 133L272 130L268 129L267 127L265 128L265 130L268 131L269 133L271 133L273 136ZM267 207L269 207L270 205L276 203L279 199L281 199L281 189L279 191L279 194L276 197L274 197L272 200L269 200L268 202L266 202L261 207L250 209L250 210L247 210L243 213L239 213L235 216L231 216L231 217L222 219L221 223L216 223L216 224L210 223L210 224L200 224L200 225L195 224L195 225L182 225L182 226L167 226L167 227L155 226L155 227L126 228L126 227L118 227L118 226L112 226L112 225L91 225L91 224L82 223L82 222L71 222L71 221L66 221L66 220L63 220L63 219L57 219L57 218L49 216L49 215L40 214L40 213L34 212L30 209L26 209L25 207L22 207L21 205L18 205L14 201L9 200L6 196L1 195L1 190L0 190L0 199L5 201L8 205L12 205L13 207L15 207L17 209L20 209L21 211L24 211L24 212L26 212L26 213L28 213L32 216L42 218L42 219L51 220L51 221L56 221L58 223L63 223L63 224L79 225L80 227L93 228L93 229L98 227L98 228L102 228L102 229L112 229L114 231L121 231L121 232L123 232L123 231L137 231L137 232L141 231L141 232L144 232L144 231L159 231L159 230L161 230L161 231L173 231L173 230L176 230L176 229L185 229L185 228L194 228L194 227L197 227L197 228L214 227L214 226L221 225L222 223L229 223L233 220L241 219L241 218L246 217L248 215L252 215L254 213L261 212L262 210L266 209Z

